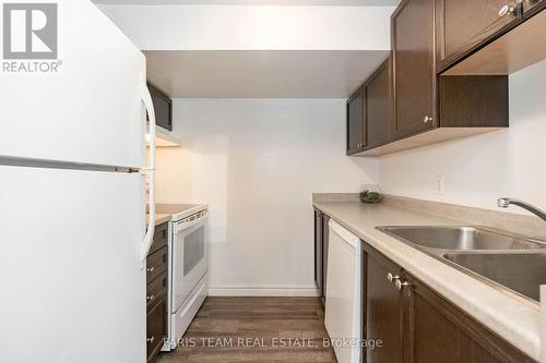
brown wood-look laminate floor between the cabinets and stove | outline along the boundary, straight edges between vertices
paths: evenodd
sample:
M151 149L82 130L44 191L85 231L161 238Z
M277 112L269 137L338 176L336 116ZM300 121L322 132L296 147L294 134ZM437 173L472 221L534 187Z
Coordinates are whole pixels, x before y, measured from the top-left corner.
M158 363L335 363L318 298L207 298Z

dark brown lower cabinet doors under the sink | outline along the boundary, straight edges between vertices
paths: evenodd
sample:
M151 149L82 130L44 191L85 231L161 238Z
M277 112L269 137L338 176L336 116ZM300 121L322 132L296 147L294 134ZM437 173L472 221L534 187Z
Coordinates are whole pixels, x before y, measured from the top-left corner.
M368 244L363 250L363 336L382 341L363 362L534 362Z

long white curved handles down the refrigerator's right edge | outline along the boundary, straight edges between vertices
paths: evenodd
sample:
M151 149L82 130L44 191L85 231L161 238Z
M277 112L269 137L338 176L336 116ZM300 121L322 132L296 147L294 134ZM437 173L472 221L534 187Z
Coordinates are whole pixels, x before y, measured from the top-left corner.
M154 104L152 101L152 95L150 94L150 89L145 82L142 86L142 101L146 107L147 117L150 120L150 159L149 166L146 168L141 169L141 173L147 176L149 178L149 222L146 235L144 237L144 241L142 242L141 249L141 269L143 269L146 265L146 256L150 252L150 247L154 242L154 231L155 231L155 110Z

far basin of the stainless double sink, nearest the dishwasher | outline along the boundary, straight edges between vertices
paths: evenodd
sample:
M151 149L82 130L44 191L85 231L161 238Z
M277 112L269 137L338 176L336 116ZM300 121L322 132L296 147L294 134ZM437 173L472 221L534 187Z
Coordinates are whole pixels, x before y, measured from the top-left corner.
M546 245L509 232L479 227L382 227L382 231L413 244L439 250L541 250Z

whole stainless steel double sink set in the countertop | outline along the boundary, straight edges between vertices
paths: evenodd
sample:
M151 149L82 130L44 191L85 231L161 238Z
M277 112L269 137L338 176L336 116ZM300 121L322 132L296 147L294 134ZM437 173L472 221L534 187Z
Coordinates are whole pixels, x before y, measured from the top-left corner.
M502 292L537 305L546 285L546 241L486 227L378 227Z

